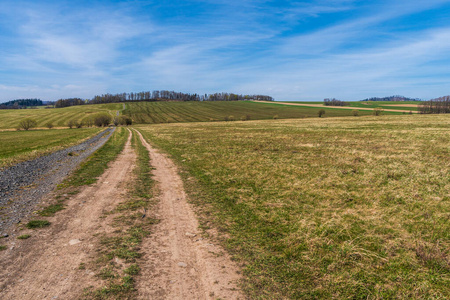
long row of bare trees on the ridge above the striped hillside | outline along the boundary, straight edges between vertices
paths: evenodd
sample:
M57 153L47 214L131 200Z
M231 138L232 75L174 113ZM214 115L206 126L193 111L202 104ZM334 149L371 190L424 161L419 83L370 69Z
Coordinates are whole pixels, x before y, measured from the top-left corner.
M234 93L214 94L189 94L175 91L147 91L139 93L118 93L97 95L91 100L81 98L59 99L55 107L67 107L83 104L117 103L125 101L239 101L239 100L265 100L274 101L271 96L266 95L241 95Z

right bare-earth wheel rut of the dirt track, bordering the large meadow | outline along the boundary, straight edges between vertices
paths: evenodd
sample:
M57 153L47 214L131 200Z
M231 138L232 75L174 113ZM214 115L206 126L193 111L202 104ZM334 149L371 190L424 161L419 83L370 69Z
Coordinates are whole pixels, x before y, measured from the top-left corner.
M155 168L161 220L143 245L139 299L243 299L238 268L221 247L201 237L177 168L138 134Z

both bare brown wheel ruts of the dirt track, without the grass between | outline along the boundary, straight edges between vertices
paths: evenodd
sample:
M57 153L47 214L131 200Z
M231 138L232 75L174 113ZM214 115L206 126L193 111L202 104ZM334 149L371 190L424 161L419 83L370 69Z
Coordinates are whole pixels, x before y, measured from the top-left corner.
M219 245L202 237L177 168L138 134L150 151L159 188L159 204L150 214L160 220L141 247L138 298L243 299L239 268ZM95 273L80 266L97 257L96 236L114 230L108 225L113 216L105 212L124 200L133 178L136 154L130 140L131 135L96 184L48 218L50 227L23 230L31 234L26 240L2 242L8 249L0 252L0 299L77 299L85 288L100 287Z

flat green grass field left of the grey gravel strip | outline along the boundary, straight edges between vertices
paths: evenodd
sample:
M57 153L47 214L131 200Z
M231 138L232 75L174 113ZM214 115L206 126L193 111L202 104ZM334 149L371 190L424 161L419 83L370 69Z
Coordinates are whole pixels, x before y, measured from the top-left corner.
M0 132L0 168L81 143L102 129L51 129Z

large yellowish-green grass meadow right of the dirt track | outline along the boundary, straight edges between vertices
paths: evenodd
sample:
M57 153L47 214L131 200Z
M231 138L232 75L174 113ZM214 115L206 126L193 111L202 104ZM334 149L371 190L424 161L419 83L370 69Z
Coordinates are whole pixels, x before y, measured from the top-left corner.
M450 298L450 117L137 126L251 299Z

